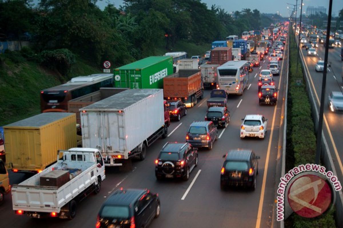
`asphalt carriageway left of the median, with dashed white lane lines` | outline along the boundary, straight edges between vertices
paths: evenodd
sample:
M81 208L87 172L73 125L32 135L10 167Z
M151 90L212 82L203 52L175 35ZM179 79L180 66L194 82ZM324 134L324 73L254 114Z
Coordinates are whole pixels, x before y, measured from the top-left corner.
M267 69L266 60L261 64L260 69L254 68L250 73L249 86L243 96L229 97L228 109L231 113L231 122L225 130L219 130L220 138L214 143L211 151L199 150L199 165L192 171L187 182L182 180L157 182L154 160L167 141L185 142L189 125L193 121L204 120L207 110L205 102L210 96L210 91L205 91L204 99L195 107L188 109L187 116L182 117L179 122L171 123L169 136L166 139L159 139L149 147L144 161L133 162L132 171L120 172L116 168L106 168L106 179L102 184L101 192L82 201L73 220L32 219L26 215L16 215L12 210L11 196L8 195L5 204L0 207L1 227L94 228L100 206L106 197L119 187L148 188L152 192L159 193L161 215L153 220L150 225L152 228L272 227L275 188L279 184L275 183L275 173L279 151L279 130L281 130L279 126L283 118L281 110L284 105L287 57L284 56L280 76L274 76L276 85L280 88L277 105L259 106L258 104L258 74L260 69ZM267 136L264 140L240 139L241 118L247 114L263 114L269 120ZM173 130L175 131L170 134ZM244 188L230 188L226 191L220 189L220 170L224 162L222 156L230 148L252 149L261 157L255 191ZM25 177L11 173L10 178L13 184L20 183ZM191 183L193 185L190 188ZM186 194L187 189L189 191Z

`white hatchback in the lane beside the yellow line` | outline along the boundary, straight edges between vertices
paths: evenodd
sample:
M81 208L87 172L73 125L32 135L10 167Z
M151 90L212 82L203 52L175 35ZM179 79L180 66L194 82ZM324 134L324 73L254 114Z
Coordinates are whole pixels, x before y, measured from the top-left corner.
M240 138L244 137L265 137L267 133L267 121L262 115L246 115L242 119L242 124L240 126Z

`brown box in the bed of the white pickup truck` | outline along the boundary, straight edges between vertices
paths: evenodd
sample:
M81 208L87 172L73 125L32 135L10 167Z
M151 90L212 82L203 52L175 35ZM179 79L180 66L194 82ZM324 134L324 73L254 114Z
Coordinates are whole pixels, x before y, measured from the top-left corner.
M52 170L40 177L40 186L61 187L70 180L68 170Z

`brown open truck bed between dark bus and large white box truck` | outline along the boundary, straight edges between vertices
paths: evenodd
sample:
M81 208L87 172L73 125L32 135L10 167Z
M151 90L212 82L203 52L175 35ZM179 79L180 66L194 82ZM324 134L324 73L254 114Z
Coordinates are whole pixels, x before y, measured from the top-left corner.
M68 112L76 114L76 123L81 124L80 108L127 90L128 88L100 88L99 91L72 99L68 102Z

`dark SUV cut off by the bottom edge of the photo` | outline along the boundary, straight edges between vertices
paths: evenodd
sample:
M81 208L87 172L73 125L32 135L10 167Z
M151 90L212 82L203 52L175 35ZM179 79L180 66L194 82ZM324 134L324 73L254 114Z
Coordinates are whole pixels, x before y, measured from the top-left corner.
M147 189L120 188L101 206L95 227L147 227L160 210L158 194Z

